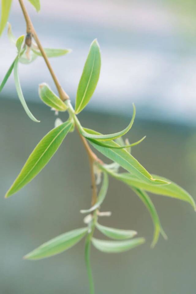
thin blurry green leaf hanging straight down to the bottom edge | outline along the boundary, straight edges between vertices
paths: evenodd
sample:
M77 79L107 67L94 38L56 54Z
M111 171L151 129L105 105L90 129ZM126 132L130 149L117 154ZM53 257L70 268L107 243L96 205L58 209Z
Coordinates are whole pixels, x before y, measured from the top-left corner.
M90 294L94 294L95 288L94 288L91 262L90 262L90 251L91 251L91 233L87 236L86 242L85 242L85 264L86 264L87 274L89 278Z

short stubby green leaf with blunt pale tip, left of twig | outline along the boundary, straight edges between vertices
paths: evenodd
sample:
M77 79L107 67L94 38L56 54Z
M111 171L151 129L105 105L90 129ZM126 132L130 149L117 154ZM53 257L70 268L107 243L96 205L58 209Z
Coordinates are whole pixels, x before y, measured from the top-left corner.
M39 86L40 99L49 107L54 108L58 111L66 111L66 104L55 95L55 93L50 89L50 87L43 83Z

